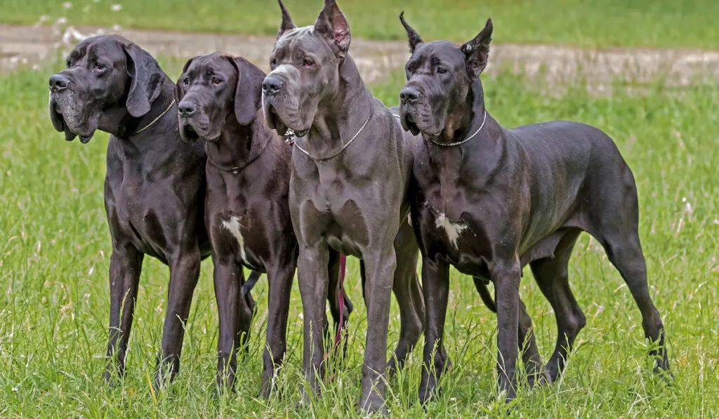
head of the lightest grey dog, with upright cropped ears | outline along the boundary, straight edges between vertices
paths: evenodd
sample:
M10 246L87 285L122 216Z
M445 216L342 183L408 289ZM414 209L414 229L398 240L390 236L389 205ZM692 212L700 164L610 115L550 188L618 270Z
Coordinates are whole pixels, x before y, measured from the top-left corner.
M282 24L270 55L272 72L262 82L267 125L303 137L324 98L339 89L339 67L349 50L349 24L334 0L325 0L313 26L296 27L282 4Z

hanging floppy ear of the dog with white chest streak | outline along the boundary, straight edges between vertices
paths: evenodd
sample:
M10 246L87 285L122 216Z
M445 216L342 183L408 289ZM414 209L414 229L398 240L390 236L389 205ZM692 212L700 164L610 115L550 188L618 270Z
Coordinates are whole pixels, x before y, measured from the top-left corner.
M237 70L234 116L240 125L249 125L262 107L262 80L265 73L244 58L227 57Z

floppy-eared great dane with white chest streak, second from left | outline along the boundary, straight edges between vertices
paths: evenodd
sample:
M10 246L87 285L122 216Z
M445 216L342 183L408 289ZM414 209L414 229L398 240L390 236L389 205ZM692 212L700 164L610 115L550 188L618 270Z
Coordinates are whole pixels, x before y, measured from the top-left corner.
M180 133L202 139L207 152L205 223L214 262L219 312L217 384L232 388L239 349L249 335L254 302L243 295L242 267L267 272L267 344L262 395L273 389L287 347L287 318L298 244L288 193L292 147L265 125L260 112L265 73L244 58L221 52L188 60L177 83ZM342 256L340 256L342 257ZM328 296L337 326L352 303L339 292L340 257L329 262ZM342 318L340 318L342 313Z

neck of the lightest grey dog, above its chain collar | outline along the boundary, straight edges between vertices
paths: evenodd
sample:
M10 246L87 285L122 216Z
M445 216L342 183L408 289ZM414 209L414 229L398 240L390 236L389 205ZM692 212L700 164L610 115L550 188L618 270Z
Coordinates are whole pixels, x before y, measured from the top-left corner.
M357 65L346 55L339 65L339 87L319 103L303 147L312 156L335 155L370 117L372 99Z

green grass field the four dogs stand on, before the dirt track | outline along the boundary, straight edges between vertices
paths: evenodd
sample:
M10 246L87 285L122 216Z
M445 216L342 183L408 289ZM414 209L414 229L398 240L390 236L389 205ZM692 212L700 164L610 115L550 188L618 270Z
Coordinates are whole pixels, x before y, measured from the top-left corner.
M178 75L178 63L164 63L171 76ZM237 393L216 400L211 396L217 313L210 262L203 264L182 370L170 389L153 395L148 381L155 372L168 282L167 269L151 259L142 272L127 377L119 388L100 387L111 249L102 198L106 135L82 145L67 143L54 132L47 117L46 78L51 73L23 71L0 81L0 417L295 417L303 382L297 286L281 373L283 397L269 403L256 398L267 306L263 279L254 292L260 310L249 356L239 364ZM372 90L392 104L401 81L395 74ZM664 316L676 382L667 387L652 376L638 309L597 242L583 235L569 270L587 328L564 379L522 390L510 417L719 415L719 88L667 92L656 85L646 96L617 89L609 98L593 98L572 87L557 98L543 96L541 86L541 78L521 75L487 79L488 109L505 126L574 119L600 126L618 142L638 183L651 296ZM347 366L302 417L356 415L366 311L354 259L347 287L357 308L349 326ZM554 314L528 272L521 295L546 360L556 339ZM390 346L398 339L397 314L393 303ZM495 316L482 305L470 278L456 272L446 338L454 369L426 415L481 417L503 411L492 401ZM416 402L420 368L417 349L406 372L388 388L393 417L425 415Z

